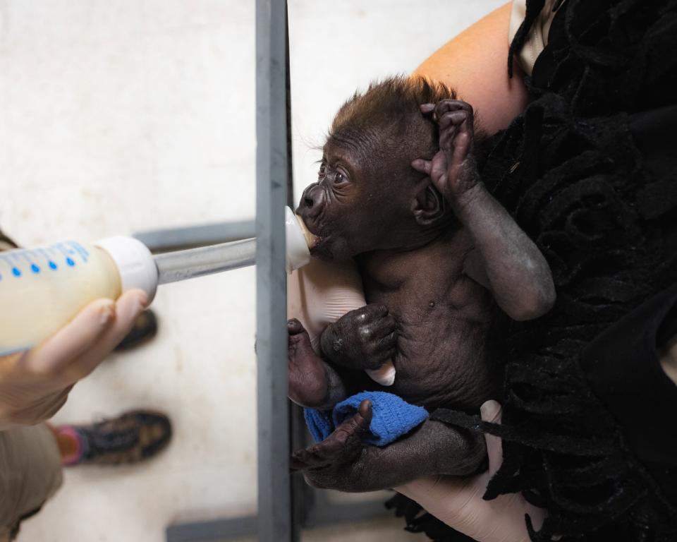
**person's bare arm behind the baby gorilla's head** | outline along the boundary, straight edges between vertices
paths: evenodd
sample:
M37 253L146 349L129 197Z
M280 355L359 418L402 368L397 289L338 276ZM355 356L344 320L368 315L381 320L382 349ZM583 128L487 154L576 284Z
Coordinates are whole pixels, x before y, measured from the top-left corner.
M504 129L527 104L523 73L513 63L508 78L511 3L477 21L434 52L414 75L438 80L472 104L482 131Z

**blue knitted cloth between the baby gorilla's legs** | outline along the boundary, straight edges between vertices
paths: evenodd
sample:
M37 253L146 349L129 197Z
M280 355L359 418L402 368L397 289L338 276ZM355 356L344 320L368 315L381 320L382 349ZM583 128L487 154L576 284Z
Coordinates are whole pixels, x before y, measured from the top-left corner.
M397 395L386 392L361 392L336 404L334 410L304 409L305 423L315 442L320 442L343 421L351 418L365 399L372 402L372 423L362 441L374 446L385 446L409 433L428 417L422 406L409 404Z

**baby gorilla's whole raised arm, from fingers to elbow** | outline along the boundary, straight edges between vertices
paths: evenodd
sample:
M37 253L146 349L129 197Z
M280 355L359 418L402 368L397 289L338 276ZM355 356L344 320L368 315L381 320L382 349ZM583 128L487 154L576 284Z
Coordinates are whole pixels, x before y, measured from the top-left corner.
M421 106L439 125L439 152L412 166L425 172L449 201L475 245L465 272L489 288L514 320L547 313L555 302L550 267L537 246L480 180L473 154L474 119L470 104L442 100Z

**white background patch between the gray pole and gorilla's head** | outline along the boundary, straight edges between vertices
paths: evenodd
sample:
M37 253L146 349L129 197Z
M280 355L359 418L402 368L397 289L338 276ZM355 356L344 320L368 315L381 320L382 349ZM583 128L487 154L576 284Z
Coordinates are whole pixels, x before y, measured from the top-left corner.
M338 107L372 80L413 71L502 0L289 2L295 192L317 180Z

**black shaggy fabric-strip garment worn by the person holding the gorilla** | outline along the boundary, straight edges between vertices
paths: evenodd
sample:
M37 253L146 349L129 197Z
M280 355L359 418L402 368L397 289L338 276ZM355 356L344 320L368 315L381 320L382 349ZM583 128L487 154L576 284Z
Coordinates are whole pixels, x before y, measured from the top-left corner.
M482 179L544 253L558 300L509 325L503 424L484 424L504 463L485 498L522 491L547 507L534 541L674 542L677 502L580 360L677 277L677 1L568 0L526 82L533 101L494 137ZM435 541L460 539L401 496L391 506Z

